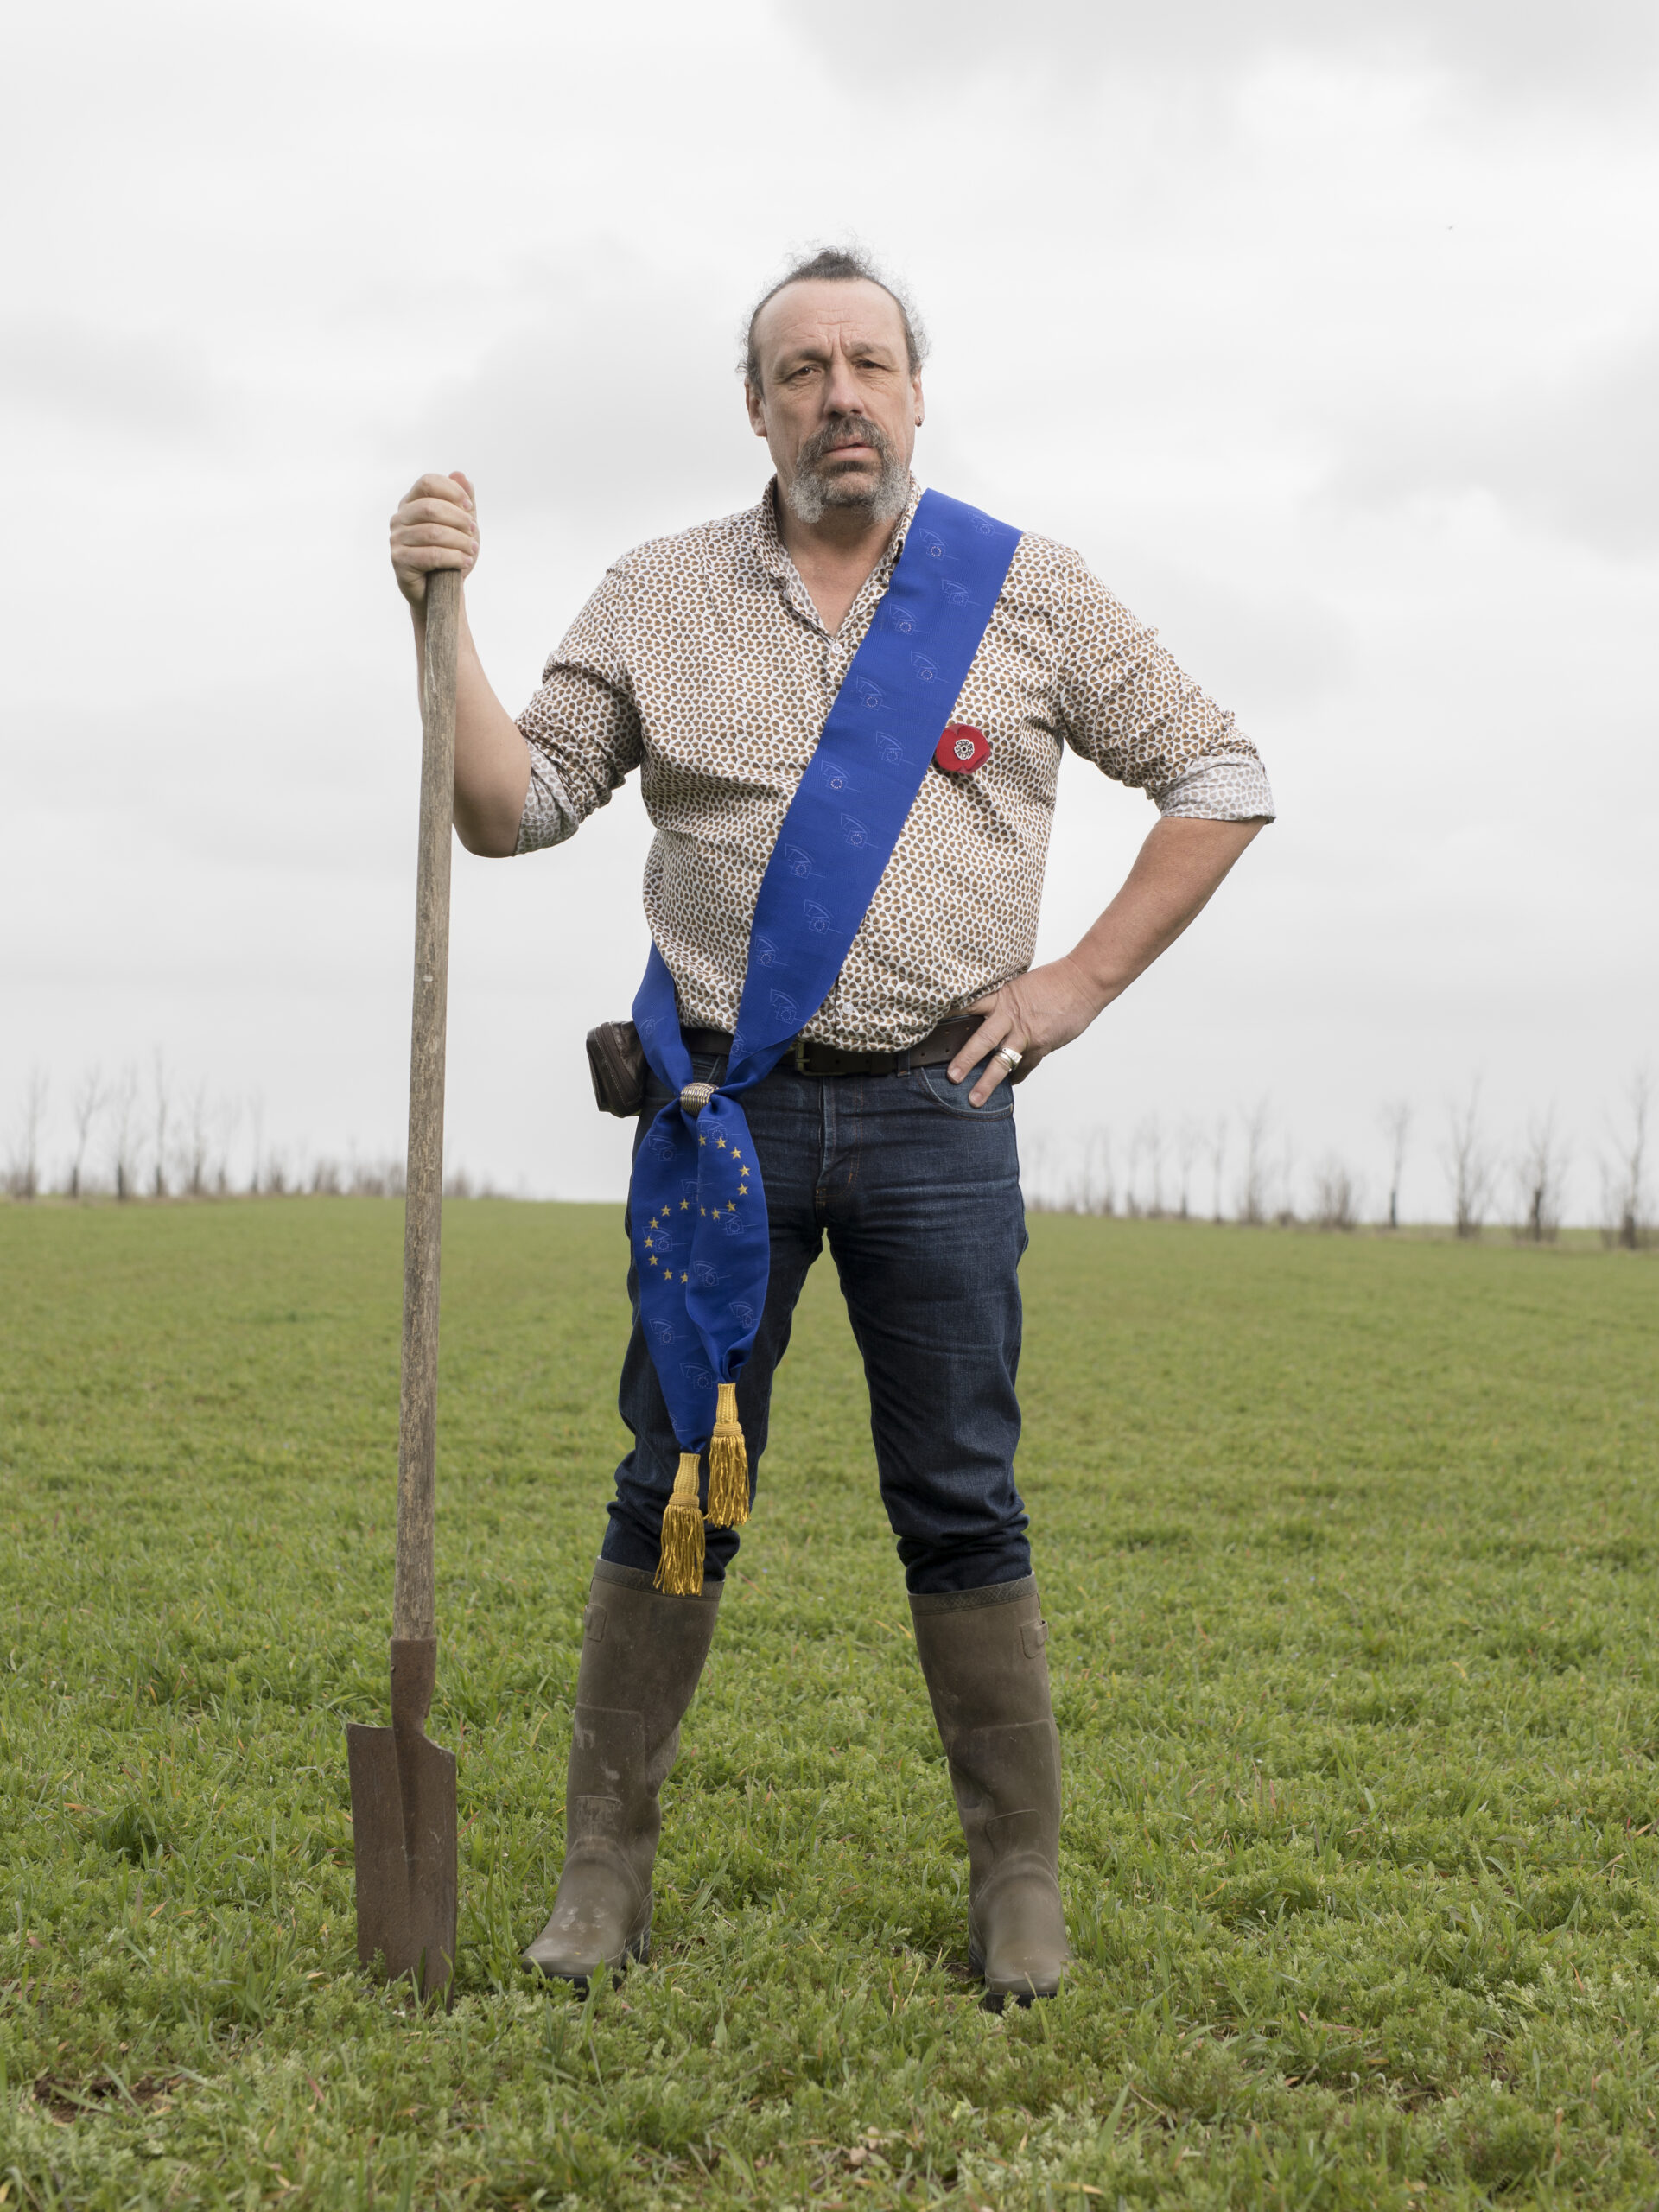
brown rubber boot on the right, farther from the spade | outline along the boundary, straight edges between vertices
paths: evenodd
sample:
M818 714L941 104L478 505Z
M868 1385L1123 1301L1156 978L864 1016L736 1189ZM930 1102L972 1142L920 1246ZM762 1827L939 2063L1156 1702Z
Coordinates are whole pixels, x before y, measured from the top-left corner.
M998 2002L1053 1997L1071 1949L1037 1582L911 1597L909 1610L969 1847L969 1964Z

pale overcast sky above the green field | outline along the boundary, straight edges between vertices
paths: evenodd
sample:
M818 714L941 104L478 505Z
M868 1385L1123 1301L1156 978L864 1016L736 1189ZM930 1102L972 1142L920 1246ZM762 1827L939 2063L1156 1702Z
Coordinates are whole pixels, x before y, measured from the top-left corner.
M1659 1060L1650 4L471 0L13 13L0 1121L91 1062L403 1144L418 714L385 518L478 484L513 710L604 564L750 504L737 341L856 237L933 338L918 473L1079 546L1281 805L1020 1099L1051 1164L1270 1102L1444 1212L1444 1104L1557 1104L1575 1212ZM1378 15L1383 22L1378 22ZM1152 821L1068 761L1042 956ZM622 1190L584 1031L635 787L458 852L449 1159ZM243 1104L241 1148L254 1119ZM1237 1135L1234 1135L1237 1146ZM1230 1170L1232 1175L1232 1170Z

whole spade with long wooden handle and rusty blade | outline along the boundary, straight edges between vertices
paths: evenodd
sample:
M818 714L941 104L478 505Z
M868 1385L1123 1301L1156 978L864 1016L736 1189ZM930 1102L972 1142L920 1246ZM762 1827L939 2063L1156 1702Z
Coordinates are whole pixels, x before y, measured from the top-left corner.
M356 1845L356 1955L420 1997L451 2000L456 1971L456 1754L427 1739L438 1681L431 1517L438 1489L438 1237L445 1179L449 836L456 805L460 575L427 577L420 695L420 869L409 1037L409 1177L403 1225L398 1579L392 1728L345 1730Z

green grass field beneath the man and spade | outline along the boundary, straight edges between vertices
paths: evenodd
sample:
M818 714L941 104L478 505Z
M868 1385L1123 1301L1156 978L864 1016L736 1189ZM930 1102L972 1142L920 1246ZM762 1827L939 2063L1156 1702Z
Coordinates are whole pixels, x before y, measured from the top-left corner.
M462 1955L352 1951L400 1210L0 1210L0 2203L1659 2201L1659 1270L1037 1219L1077 1966L987 2013L818 1270L657 1951L518 1966L619 1444L608 1208L449 1208Z

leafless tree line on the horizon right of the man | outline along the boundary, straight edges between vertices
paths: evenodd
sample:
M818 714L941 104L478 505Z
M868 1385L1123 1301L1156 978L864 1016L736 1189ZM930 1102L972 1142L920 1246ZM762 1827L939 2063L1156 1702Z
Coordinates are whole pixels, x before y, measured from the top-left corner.
M1356 1230L1367 1219L1402 1228L1400 1190L1418 1108L1396 1097L1378 1110L1385 1179L1378 1212L1371 1192L1338 1152L1325 1152L1307 1172L1296 1146L1274 1117L1272 1099L1256 1099L1214 1121L1183 1119L1166 1128L1157 1115L1135 1124L1119 1152L1106 1128L1088 1130L1066 1150L1037 1139L1026 1148L1026 1197L1035 1210L1121 1214L1126 1219L1210 1219L1248 1225L1307 1225ZM1608 1117L1597 1148L1601 1183L1599 1225L1608 1243L1637 1250L1655 1237L1650 1190L1652 1079L1637 1071L1619 1108ZM1533 1113L1502 1144L1484 1110L1475 1077L1444 1104L1438 1166L1447 1212L1458 1237L1480 1237L1504 1223L1517 1239L1553 1241L1564 1223L1573 1148L1555 1106Z

